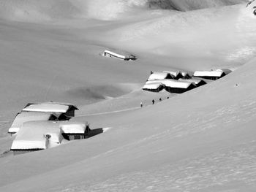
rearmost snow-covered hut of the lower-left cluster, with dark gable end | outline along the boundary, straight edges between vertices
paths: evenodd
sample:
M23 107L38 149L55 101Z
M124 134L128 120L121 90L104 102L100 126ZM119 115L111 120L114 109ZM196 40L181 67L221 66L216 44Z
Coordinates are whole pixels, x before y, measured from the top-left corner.
M22 110L23 112L55 112L58 115L64 114L67 117L74 117L75 110L78 110L73 104L59 103L59 102L44 102L32 104L29 103ZM61 118L61 117L58 117Z

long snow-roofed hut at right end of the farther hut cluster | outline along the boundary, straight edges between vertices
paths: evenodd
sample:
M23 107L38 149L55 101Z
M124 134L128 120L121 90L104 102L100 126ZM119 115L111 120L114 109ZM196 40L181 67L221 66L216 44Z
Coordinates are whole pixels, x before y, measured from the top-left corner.
M221 69L214 71L195 71L193 77L201 77L208 80L218 80L226 75Z

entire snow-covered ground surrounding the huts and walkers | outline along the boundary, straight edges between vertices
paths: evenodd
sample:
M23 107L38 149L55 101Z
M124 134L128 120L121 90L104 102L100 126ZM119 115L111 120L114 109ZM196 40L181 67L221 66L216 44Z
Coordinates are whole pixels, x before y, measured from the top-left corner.
M0 191L255 191L252 9L170 1L189 4L179 12L116 2L1 0ZM188 11L200 8L192 3L207 9ZM107 47L140 59L103 58ZM165 69L236 70L180 95L140 90L148 72ZM78 104L74 121L109 129L48 150L6 153L13 117L38 101Z

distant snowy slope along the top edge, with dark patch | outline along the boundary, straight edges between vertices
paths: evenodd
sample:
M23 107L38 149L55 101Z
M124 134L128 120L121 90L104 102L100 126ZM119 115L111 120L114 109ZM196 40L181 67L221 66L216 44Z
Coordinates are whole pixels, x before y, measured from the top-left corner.
M0 18L22 21L51 21L71 18L112 20L132 9L192 10L238 4L244 0L1 0Z

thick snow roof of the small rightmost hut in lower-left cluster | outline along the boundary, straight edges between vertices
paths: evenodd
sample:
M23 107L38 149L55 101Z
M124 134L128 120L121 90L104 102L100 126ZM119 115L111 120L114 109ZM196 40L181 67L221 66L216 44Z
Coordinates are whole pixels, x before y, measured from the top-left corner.
M65 134L83 134L86 131L86 124L75 121L65 121L60 124L60 128Z

